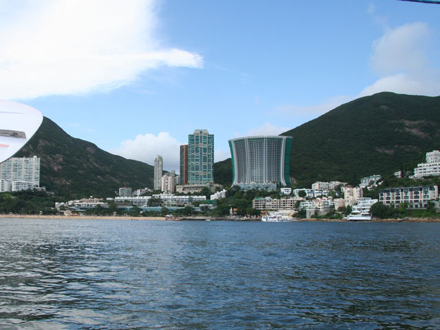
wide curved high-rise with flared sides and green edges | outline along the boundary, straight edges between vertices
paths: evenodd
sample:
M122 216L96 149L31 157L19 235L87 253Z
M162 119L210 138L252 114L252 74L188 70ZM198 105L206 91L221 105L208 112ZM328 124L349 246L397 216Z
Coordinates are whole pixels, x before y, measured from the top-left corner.
M290 185L292 137L248 136L229 140L233 186L267 188Z

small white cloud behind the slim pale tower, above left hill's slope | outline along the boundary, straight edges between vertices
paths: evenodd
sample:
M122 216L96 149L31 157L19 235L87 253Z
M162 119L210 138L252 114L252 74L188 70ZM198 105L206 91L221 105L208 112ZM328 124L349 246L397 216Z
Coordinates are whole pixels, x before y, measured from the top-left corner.
M154 165L157 155L162 155L164 170L175 170L178 173L181 144L170 133L161 132L157 136L154 134L137 135L134 140L122 141L120 148L115 148L110 152L150 165Z

